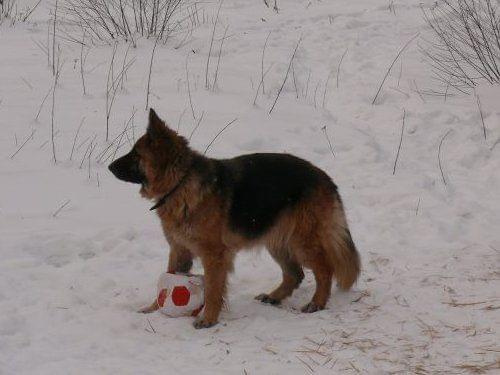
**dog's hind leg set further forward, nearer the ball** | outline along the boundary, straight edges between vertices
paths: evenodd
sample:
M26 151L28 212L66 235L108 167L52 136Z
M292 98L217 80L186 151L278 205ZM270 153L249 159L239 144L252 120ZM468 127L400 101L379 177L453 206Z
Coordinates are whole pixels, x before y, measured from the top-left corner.
M269 294L259 294L256 300L271 305L278 305L281 301L289 297L294 289L297 289L304 279L304 272L297 261L292 259L288 251L269 251L273 259L280 265L283 272L281 284Z

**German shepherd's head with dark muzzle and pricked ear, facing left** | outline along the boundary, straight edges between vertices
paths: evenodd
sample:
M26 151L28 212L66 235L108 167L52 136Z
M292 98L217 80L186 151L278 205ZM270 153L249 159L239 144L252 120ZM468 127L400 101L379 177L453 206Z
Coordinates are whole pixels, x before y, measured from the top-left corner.
M187 141L169 129L153 109L149 111L146 134L132 150L109 165L116 178L141 184L141 194L155 198L168 184L169 167L177 164L187 151Z

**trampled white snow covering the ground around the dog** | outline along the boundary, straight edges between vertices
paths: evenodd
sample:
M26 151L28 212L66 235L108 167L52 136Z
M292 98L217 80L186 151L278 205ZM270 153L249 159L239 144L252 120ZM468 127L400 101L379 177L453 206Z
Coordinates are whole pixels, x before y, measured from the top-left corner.
M279 268L266 252L241 254L228 309L219 325L201 331L190 318L135 312L151 302L168 247L148 211L150 203L136 187L114 179L107 163L95 160L107 145L112 47L90 49L83 96L80 48L59 41L65 63L55 93L54 165L50 95L35 121L53 79L35 44L46 41L49 2L42 2L29 23L4 24L0 374L498 371L500 91L478 89L485 140L474 96L450 91L445 101L428 95L444 88L433 80L418 50L421 40L415 40L372 105L399 48L418 32L427 33L420 0L394 1L395 13L389 3L281 0L276 14L261 0L226 0L210 63L213 79L228 26L215 92L205 90L204 83L217 3L201 3L206 22L187 44L174 48L179 35L157 47L150 105L181 134L191 134L197 120L186 89L189 55L195 117L204 113L193 147L204 150L237 118L214 142L210 156L284 151L324 168L340 187L363 260L354 290L334 288L327 310L302 315L297 309L313 293L311 275L281 308L262 305L253 296L275 286ZM265 95L254 106L269 32L265 69L273 65ZM294 74L269 115L300 36ZM128 138L144 130L152 47L140 40L129 51L128 58L136 61L112 108L111 139L135 109L134 131L123 137L117 155L130 147ZM116 71L126 49L118 46ZM403 110L405 131L393 175ZM442 176L438 147L449 130L441 147ZM94 135L95 151L84 159ZM201 272L199 264L196 271Z

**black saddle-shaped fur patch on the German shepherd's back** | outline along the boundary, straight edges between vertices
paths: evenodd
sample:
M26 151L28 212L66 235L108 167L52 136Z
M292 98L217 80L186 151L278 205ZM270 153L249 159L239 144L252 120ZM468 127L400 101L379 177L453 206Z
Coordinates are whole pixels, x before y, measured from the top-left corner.
M232 230L248 239L265 234L286 210L319 184L337 187L322 170L289 154L258 153L218 161L218 184L228 195Z

